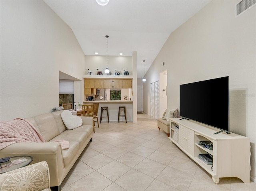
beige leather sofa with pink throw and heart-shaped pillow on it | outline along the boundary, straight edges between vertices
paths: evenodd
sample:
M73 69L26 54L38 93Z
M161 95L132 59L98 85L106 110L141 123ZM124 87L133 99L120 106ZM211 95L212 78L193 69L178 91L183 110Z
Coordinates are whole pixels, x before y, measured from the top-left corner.
M32 163L46 161L50 169L50 186L60 191L60 185L68 171L74 165L89 141L92 141L93 117L82 118L82 126L68 130L64 125L61 113L46 113L28 118L36 130L47 141L46 143L20 142L0 150L1 158L27 155L33 157ZM69 148L62 150L60 143L54 140L66 140Z

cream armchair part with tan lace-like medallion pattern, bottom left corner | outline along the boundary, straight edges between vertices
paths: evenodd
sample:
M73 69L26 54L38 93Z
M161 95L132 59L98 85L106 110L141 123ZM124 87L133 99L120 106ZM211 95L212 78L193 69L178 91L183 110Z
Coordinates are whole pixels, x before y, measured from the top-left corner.
M49 168L46 161L0 174L1 190L50 191Z

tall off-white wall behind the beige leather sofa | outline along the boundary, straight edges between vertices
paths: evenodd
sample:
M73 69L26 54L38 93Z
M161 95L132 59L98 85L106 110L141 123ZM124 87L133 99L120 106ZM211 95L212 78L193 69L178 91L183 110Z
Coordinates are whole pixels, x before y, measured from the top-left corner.
M0 3L1 120L50 112L58 106L59 71L82 79L84 53L44 1Z

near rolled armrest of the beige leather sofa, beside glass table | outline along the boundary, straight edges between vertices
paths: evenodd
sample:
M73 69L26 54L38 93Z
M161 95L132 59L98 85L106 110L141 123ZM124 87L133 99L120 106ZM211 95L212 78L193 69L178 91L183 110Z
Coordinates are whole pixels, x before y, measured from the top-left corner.
M33 158L33 163L46 161L50 170L51 186L61 184L61 177L64 169L62 148L60 143L14 143L0 151L1 158L27 155Z

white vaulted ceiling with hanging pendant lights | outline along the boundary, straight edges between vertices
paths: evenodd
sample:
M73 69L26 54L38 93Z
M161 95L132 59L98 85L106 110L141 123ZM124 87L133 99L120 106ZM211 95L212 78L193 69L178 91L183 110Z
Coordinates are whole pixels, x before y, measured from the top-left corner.
M143 77L169 35L210 0L45 0L74 34L85 55L131 56L137 51L137 77ZM109 63L111 64L111 63Z

